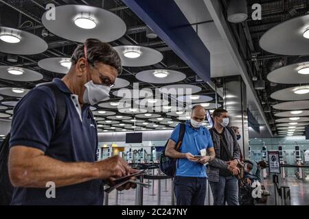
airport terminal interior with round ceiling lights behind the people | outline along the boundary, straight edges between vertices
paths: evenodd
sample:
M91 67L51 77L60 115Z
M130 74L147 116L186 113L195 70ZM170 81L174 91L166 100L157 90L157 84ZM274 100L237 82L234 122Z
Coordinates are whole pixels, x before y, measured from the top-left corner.
M91 106L97 155L145 169L147 186L105 192L104 205L175 205L160 157L194 105L207 129L227 110L242 158L266 162L252 205L309 205L308 1L0 0L0 29L1 141L15 105L64 77L78 44L96 38L121 57L110 96Z

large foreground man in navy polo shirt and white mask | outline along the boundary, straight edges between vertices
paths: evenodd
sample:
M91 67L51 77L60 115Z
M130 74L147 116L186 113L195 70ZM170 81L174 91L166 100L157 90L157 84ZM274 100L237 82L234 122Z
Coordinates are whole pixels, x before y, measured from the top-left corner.
M8 165L12 205L102 205L102 179L137 171L119 156L100 162L96 157L98 135L89 105L109 96L122 70L119 55L110 45L88 39L76 48L71 63L69 73L52 82L65 96L60 128L48 86L32 89L14 108ZM56 196L47 196L47 185L56 186Z

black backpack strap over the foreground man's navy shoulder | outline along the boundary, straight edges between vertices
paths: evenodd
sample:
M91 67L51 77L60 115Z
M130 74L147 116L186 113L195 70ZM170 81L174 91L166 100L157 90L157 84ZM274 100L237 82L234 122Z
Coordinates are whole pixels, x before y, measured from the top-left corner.
M59 88L54 83L45 83L42 86L49 87L56 99L56 119L55 119L55 127L56 130L60 128L63 121L65 120L65 115L67 114L67 107L65 103L65 95L59 90Z

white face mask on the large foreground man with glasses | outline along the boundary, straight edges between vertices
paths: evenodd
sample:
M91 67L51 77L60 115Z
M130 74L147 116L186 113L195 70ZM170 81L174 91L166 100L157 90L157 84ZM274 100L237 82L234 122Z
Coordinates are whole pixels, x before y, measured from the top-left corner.
M86 87L86 90L84 91L82 101L84 103L89 103L90 105L95 105L106 99L111 90L110 86L94 84L93 81L88 81L84 86Z

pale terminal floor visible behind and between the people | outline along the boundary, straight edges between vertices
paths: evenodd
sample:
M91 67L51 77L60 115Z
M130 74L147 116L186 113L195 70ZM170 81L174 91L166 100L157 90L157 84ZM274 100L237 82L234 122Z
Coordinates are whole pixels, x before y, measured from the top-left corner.
M147 181L147 180L145 180ZM155 187L152 188L152 180L150 180L150 187L144 188L143 195L143 205L171 205L171 180L165 179L161 180L161 201L158 203L158 181L155 180ZM267 205L275 205L274 198L274 186L272 179L264 180L264 185L266 190L271 192L271 196L268 197ZM289 177L287 179L282 179L281 185L290 187L291 194L291 204L292 205L309 205L309 179L302 181L301 179L296 179ZM116 191L114 190L108 195L108 205L135 205L136 190L126 190L118 192L118 201L116 203ZM210 192L210 203L212 205L213 198ZM207 205L208 198L205 200L205 205Z

